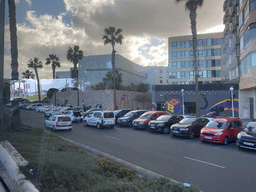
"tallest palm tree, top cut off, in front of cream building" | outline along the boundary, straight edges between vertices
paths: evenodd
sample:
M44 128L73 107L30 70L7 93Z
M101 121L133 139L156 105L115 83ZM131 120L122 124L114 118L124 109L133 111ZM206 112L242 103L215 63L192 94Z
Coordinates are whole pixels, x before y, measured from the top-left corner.
M199 109L199 95L198 95L198 70L197 70L197 30L196 30L196 10L203 6L204 0L175 0L176 3L185 1L185 9L189 11L191 22L191 31L193 36L193 57L195 65L195 92L196 92L196 117L200 116Z

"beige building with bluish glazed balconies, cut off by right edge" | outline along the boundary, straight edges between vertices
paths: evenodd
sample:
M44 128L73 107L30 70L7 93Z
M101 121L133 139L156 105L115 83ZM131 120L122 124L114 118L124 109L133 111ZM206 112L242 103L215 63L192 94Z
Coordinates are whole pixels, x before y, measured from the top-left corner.
M241 118L256 118L256 0L239 0Z

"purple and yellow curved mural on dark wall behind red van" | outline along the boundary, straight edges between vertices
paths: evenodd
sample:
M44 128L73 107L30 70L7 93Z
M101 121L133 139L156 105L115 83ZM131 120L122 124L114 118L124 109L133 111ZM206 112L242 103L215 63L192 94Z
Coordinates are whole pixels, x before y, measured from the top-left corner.
M238 99L233 100L233 105L234 105L234 111L239 111L239 103ZM225 99L222 100L216 104L214 104L212 107L210 107L208 110L204 111L201 115L211 115L214 114L216 116L220 115L220 112L224 111L231 111L232 110L232 101L231 99Z

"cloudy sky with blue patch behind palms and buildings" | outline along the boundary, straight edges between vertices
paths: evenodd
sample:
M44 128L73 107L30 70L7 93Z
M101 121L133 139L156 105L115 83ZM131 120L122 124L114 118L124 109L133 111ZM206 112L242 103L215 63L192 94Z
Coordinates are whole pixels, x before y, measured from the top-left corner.
M61 68L69 70L69 47L79 45L84 56L111 54L111 46L103 43L104 29L121 28L122 45L118 54L139 65L168 63L168 37L190 35L189 12L185 3L175 0L15 0L18 31L18 61L21 73L29 59L43 63L49 54L60 58ZM198 9L198 33L223 31L224 0L205 0ZM8 3L5 16L5 77L11 77ZM30 69L33 71L33 69ZM52 77L52 69L44 65L40 79Z

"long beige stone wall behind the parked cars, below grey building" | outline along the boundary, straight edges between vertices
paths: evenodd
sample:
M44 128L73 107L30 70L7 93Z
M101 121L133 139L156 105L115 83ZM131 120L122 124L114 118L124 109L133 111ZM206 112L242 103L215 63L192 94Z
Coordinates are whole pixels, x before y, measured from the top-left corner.
M147 109L151 110L152 102L137 102L135 100L136 95L138 94L148 94L151 97L151 93L140 93L140 92L130 92L130 91L116 91L116 102L118 109ZM89 91L79 91L79 104L82 106L91 106L95 108L96 104L101 104L103 110L113 110L113 90L89 90ZM122 95L125 95L127 99L126 102L122 104L120 98ZM55 95L52 97L50 104L55 105L65 105L70 104L72 106L77 106L77 91L70 92L57 92L56 98Z

